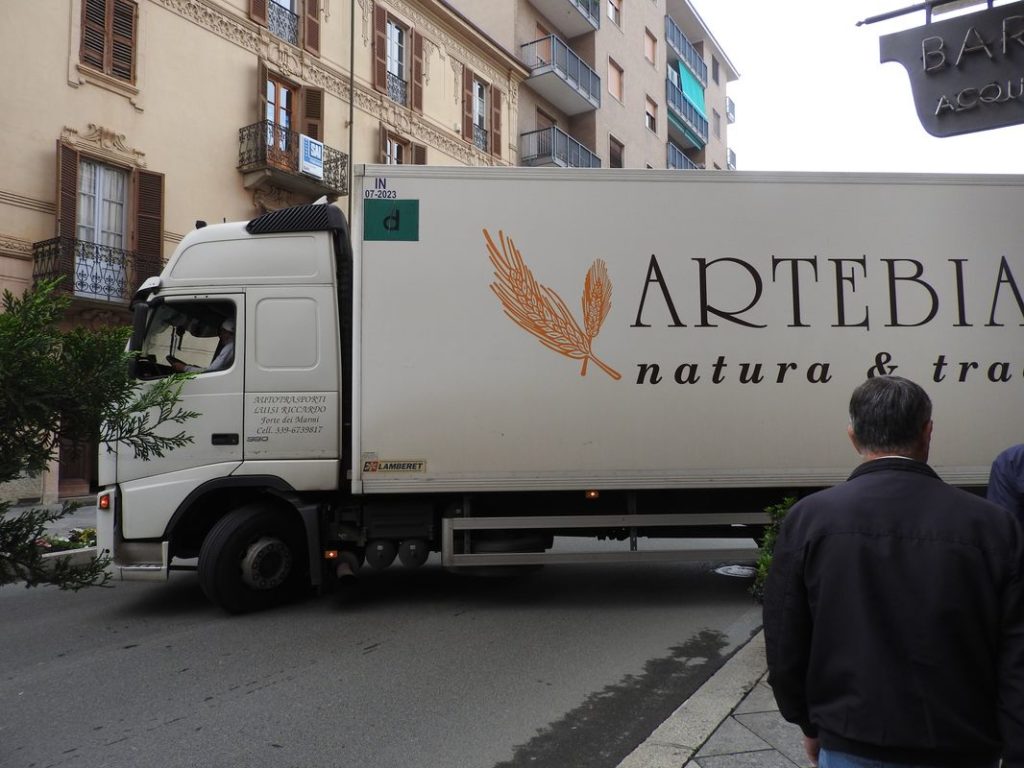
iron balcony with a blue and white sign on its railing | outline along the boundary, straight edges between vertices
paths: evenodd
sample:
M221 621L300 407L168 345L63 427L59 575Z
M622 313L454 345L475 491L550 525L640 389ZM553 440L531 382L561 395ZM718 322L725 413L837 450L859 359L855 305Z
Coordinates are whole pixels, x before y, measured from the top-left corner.
M299 134L261 120L239 129L239 170L247 189L278 187L318 198L348 194L348 156L324 145L324 178L299 171Z

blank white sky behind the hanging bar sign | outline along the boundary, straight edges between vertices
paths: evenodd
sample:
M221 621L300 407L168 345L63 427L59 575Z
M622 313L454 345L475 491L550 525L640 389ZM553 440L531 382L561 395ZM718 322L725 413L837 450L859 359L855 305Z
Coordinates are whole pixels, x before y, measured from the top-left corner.
M739 170L1024 173L1024 125L935 138L906 71L879 61L879 37L924 26L924 11L856 26L918 0L691 1L739 71Z

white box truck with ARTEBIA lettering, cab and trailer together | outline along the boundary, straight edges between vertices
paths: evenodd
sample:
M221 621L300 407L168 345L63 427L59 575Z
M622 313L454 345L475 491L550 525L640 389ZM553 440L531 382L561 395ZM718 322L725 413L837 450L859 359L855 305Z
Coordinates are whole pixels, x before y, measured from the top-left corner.
M353 196L351 231L199 228L139 291L136 375L202 369L201 416L165 459L100 450L123 577L198 567L243 611L396 555L708 558L638 540L842 481L879 374L931 394L950 482L1021 439L1024 177L366 166Z

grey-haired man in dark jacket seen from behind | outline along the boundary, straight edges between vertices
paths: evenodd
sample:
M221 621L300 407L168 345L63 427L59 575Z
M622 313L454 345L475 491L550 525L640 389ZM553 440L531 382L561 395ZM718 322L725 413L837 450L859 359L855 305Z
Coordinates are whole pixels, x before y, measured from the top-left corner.
M776 540L779 711L821 768L1024 768L1020 524L928 466L932 403L913 382L857 387L849 433L863 463L798 502Z

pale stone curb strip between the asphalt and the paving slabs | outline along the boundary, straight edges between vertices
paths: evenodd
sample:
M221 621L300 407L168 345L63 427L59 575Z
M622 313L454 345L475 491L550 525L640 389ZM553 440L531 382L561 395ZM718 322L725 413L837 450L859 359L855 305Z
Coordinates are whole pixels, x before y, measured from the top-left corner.
M764 632L758 632L617 768L685 765L766 671Z

